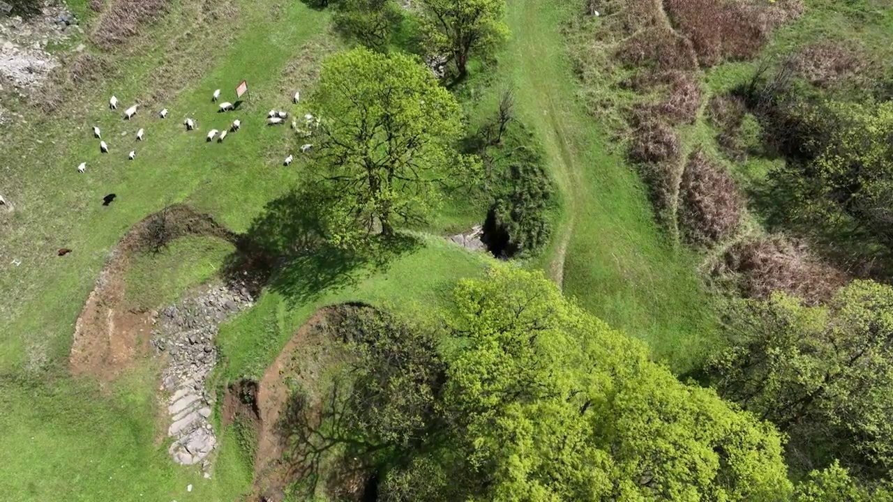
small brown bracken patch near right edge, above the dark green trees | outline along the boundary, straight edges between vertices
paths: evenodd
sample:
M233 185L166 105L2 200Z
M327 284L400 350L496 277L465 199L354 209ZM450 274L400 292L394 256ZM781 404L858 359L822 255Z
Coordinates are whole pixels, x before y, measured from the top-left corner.
M858 78L869 70L864 54L828 42L802 47L791 58L791 64L797 75L820 88Z

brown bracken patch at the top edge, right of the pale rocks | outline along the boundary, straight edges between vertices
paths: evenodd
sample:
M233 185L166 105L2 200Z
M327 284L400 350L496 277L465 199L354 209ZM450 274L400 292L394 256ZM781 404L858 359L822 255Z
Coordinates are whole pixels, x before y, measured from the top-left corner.
M170 0L113 0L90 41L105 50L120 46L128 38L137 35L138 29L166 13Z

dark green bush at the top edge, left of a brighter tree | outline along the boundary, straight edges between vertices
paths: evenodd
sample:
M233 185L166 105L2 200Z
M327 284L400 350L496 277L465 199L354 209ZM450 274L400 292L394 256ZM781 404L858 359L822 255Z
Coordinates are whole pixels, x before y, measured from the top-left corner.
M394 0L341 0L332 21L347 37L385 52L403 17L403 11Z

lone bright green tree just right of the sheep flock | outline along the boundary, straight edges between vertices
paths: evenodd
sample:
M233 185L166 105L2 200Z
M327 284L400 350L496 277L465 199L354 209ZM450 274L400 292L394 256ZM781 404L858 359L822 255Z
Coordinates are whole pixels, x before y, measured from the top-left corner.
M461 108L410 55L359 47L330 56L313 103L321 116L317 166L339 200L331 208L338 244L423 221L441 184L463 180L475 165L454 147Z

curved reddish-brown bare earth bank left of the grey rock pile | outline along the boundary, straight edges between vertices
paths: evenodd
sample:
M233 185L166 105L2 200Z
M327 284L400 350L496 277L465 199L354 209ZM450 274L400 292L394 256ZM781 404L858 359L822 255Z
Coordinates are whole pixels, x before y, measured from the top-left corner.
M75 323L69 358L72 373L111 380L135 358L149 354L148 342L157 313L128 301L125 274L132 256L151 244L161 214L165 238L201 235L235 240L213 218L186 205L171 206L134 225L114 247Z

